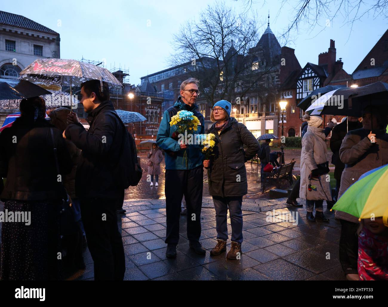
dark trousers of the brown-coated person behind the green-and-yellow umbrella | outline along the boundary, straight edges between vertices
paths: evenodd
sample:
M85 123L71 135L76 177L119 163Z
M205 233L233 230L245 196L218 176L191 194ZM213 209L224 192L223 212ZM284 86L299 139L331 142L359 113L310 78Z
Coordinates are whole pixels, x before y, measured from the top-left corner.
M345 274L358 274L359 224L341 219L340 263Z

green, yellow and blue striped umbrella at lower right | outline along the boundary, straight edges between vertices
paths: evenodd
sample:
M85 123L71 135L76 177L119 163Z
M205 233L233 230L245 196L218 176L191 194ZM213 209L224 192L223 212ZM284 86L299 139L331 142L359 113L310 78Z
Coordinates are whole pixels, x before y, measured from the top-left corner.
M388 164L363 174L340 197L332 210L339 210L361 219L383 217L388 226Z

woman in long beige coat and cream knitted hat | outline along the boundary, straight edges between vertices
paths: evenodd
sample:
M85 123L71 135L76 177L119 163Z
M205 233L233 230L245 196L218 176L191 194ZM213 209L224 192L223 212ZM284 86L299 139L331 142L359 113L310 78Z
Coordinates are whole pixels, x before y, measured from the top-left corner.
M331 201L331 193L330 183L324 176L329 172L329 166L326 158L326 135L324 129L319 128L322 117L305 114L303 120L307 121L308 127L302 138L299 195L306 200L307 221L315 222L315 219L320 219L329 222L323 214L323 201ZM327 169L327 172L322 173L321 169Z

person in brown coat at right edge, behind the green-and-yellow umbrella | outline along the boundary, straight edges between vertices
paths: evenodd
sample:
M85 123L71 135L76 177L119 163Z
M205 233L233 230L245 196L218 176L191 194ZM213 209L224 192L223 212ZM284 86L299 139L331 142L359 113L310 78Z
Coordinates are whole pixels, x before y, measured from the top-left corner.
M362 116L362 128L349 131L342 141L340 159L345 164L338 199L362 174L388 164L386 109L368 107ZM358 279L357 258L359 221L346 212L336 210L341 220L340 263L347 279Z

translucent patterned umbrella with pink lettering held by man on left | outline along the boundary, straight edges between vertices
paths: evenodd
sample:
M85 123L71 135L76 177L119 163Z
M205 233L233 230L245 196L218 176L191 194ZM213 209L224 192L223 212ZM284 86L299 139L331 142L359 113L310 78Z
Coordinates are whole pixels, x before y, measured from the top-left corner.
M101 80L110 87L122 86L104 67L64 59L37 59L20 72L21 79L40 84L80 86L88 80Z

